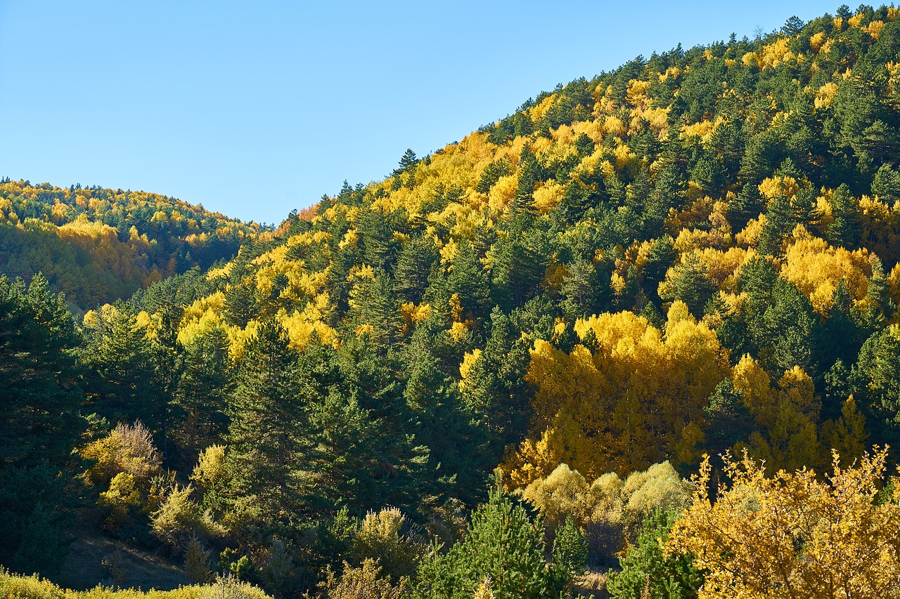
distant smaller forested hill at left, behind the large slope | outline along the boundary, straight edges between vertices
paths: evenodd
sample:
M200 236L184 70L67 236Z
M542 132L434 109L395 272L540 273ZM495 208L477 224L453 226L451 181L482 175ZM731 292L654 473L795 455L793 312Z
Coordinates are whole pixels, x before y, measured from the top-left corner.
M0 273L43 273L81 312L229 259L259 226L147 192L0 182Z

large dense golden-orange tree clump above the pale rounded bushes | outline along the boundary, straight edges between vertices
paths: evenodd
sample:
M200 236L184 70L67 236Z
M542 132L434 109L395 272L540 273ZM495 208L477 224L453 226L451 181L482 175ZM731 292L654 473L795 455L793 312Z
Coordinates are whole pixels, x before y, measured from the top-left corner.
M716 334L676 301L664 331L633 312L579 319L565 353L536 340L531 433L508 463L527 486L566 463L589 478L625 475L669 458L694 459L703 407L727 374Z

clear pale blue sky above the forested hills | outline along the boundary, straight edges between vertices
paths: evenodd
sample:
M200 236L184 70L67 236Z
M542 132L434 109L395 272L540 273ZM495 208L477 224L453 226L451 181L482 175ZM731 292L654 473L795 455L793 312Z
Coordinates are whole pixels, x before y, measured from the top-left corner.
M279 222L558 83L837 5L0 0L0 176Z

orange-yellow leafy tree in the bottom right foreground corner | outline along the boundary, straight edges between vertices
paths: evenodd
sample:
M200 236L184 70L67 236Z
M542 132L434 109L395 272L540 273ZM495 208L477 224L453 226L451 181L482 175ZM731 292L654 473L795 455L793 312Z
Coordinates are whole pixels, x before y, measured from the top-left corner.
M672 527L668 550L689 553L706 579L700 599L888 597L900 588L900 488L879 501L887 448L833 473L779 470L746 453L726 457L730 483L709 493L708 458L693 504Z

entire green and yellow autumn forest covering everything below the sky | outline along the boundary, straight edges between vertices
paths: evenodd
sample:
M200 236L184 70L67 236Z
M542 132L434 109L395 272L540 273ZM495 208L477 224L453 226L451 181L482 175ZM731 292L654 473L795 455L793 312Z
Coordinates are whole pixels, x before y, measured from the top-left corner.
M277 228L0 209L0 595L900 588L893 6L558 85Z

